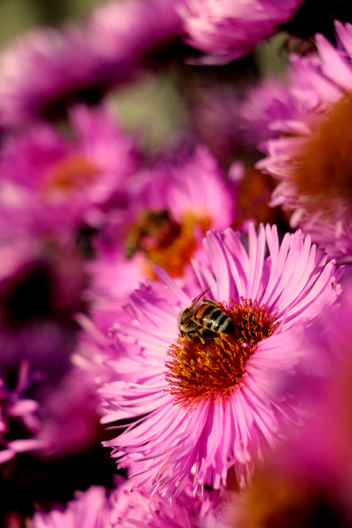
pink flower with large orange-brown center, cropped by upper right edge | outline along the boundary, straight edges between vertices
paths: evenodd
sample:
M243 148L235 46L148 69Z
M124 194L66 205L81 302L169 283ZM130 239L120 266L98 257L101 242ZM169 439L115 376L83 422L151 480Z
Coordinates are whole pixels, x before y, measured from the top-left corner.
M274 137L257 166L280 180L271 203L294 211L291 226L350 261L352 26L335 26L337 48L317 34L318 55L291 56L289 101L269 121Z

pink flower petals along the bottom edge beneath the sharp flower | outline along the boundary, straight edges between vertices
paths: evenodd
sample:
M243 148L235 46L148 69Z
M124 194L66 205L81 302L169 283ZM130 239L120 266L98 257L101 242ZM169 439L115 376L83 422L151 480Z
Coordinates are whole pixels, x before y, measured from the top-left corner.
M65 509L35 513L33 528L197 528L205 515L217 518L218 494L204 491L194 497L190 483L173 505L166 498L150 497L146 489L131 493L130 483L122 477L116 484L109 498L103 487L91 486L86 492L76 492Z

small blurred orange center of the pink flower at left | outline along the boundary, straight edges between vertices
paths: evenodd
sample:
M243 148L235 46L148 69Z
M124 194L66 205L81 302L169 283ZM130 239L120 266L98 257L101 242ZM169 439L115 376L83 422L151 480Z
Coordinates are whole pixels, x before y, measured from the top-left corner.
M97 180L99 171L83 156L72 155L59 161L44 186L45 195L75 194Z

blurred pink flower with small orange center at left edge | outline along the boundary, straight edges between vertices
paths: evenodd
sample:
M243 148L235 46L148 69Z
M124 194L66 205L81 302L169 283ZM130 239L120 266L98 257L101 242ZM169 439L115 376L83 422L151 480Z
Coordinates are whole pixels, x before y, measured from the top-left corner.
M3 233L30 232L65 240L81 225L97 227L102 206L125 194L126 177L136 167L132 141L103 109L75 107L70 122L73 140L43 124L4 147Z

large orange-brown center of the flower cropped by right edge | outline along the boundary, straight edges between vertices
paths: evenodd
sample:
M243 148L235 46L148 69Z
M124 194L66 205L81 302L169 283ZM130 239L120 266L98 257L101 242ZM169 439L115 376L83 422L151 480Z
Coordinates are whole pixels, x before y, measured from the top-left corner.
M307 209L352 199L352 93L322 119L298 159L294 179Z

